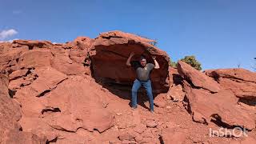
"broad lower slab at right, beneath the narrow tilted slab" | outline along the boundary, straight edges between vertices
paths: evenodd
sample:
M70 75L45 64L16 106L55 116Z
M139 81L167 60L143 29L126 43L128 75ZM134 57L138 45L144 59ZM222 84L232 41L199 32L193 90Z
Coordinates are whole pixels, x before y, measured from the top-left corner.
M254 119L238 105L238 98L230 90L220 90L211 94L206 90L193 89L185 84L187 110L195 122L209 124L216 122L221 126L242 126L247 130L255 128Z

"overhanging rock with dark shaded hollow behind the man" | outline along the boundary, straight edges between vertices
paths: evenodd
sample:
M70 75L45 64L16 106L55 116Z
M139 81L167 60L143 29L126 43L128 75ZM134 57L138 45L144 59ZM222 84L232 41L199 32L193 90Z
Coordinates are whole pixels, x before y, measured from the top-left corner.
M94 78L131 86L136 75L130 66L126 66L130 53L135 53L132 60L138 60L140 55L144 54L148 62L153 62L150 56L155 55L160 69L152 71L153 90L167 91L169 58L166 52L149 42L153 41L120 31L100 34L95 39L95 54L91 55Z

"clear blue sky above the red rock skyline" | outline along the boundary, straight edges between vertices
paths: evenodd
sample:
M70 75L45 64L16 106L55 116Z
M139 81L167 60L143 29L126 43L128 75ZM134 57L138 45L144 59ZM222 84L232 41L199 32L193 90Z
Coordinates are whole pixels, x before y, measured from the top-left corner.
M252 70L255 8L254 0L0 0L0 38L68 42L122 30L156 39L174 61L195 55L203 69Z

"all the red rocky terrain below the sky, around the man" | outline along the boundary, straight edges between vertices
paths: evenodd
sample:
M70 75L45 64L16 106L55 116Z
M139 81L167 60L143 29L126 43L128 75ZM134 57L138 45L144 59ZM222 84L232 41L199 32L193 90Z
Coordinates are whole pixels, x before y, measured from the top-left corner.
M1 43L0 143L256 143L255 73L174 69L151 42L113 31L64 44ZM131 51L160 64L154 114L145 90L130 109ZM221 128L235 134L213 133Z

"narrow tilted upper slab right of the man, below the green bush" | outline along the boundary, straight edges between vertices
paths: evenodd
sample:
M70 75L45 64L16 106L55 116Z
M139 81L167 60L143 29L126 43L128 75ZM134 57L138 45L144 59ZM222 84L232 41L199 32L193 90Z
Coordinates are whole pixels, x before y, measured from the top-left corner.
M178 73L196 88L209 90L212 93L217 93L221 90L218 82L214 81L213 78L208 77L206 74L195 70L186 62L178 61Z

